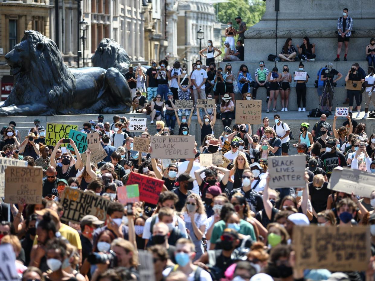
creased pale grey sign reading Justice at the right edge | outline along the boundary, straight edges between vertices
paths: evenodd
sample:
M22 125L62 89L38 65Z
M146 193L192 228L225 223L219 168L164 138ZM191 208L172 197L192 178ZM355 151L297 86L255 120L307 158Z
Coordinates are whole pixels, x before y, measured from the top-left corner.
M333 169L327 188L357 196L370 197L375 187L375 175L347 167Z

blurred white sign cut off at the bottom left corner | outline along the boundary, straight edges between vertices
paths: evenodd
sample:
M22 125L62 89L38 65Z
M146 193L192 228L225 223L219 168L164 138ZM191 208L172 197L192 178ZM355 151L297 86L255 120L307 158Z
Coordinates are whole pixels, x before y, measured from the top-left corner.
M11 244L0 245L0 280L18 281L16 255Z

